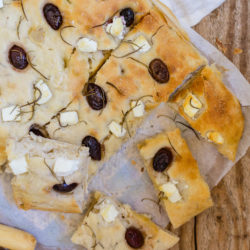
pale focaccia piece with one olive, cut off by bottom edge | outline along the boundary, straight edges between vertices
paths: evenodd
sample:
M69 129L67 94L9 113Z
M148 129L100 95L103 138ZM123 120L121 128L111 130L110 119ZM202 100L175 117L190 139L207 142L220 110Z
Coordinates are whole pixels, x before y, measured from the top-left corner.
M174 246L178 237L162 230L128 205L96 193L92 206L71 240L89 250L165 250Z

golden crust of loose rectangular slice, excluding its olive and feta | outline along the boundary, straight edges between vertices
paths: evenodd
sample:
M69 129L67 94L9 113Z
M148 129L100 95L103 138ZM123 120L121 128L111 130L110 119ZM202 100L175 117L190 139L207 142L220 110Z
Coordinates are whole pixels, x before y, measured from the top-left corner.
M177 228L203 210L211 207L213 202L209 187L201 177L197 163L181 137L179 129L158 134L138 145L147 172L156 189L159 191L159 187L169 181L166 175L156 172L152 167L154 155L163 147L171 148L174 154L174 161L164 172L170 180L178 182L182 196L182 200L176 203L163 199L169 219L174 228Z

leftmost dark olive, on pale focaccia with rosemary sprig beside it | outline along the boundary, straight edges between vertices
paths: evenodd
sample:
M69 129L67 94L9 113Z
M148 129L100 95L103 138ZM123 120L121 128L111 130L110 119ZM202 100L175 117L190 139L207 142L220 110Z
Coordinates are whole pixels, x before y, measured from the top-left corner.
M9 50L9 61L16 69L25 69L29 64L25 50L17 45Z

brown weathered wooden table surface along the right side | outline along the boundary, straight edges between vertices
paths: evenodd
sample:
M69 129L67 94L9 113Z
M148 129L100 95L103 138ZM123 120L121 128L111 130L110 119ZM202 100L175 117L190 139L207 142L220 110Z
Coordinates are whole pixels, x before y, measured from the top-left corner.
M250 2L226 0L194 29L216 46L216 38L226 48L225 55L250 82ZM235 54L235 48L243 50ZM180 237L172 250L250 249L250 149L212 190L214 207L178 230Z

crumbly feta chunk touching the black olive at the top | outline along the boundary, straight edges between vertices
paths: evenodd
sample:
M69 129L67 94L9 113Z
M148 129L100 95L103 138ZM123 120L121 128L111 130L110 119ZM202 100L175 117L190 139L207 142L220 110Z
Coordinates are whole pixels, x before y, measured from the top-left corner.
M122 40L125 34L125 24L124 17L114 17L113 22L107 25L106 32Z

